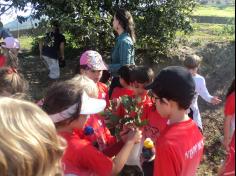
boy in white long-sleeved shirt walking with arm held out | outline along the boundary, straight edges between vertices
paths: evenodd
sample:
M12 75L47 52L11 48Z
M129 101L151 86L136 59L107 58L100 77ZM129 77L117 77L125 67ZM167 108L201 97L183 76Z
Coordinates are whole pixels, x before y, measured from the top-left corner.
M201 58L197 55L187 55L184 60L184 66L192 74L193 80L196 85L195 89L196 94L190 106L189 117L191 117L196 122L199 129L202 131L203 130L202 119L197 102L198 96L200 95L205 101L213 105L219 104L221 100L218 97L209 94L206 87L205 78L198 74L200 63L201 63Z

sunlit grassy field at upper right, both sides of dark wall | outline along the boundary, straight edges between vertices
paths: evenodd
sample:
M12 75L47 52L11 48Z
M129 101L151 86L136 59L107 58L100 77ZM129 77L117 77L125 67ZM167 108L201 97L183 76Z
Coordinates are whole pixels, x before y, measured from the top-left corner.
M193 11L193 16L229 18L225 24L192 22L193 32L177 32L177 41L186 45L198 46L209 42L229 42L235 40L235 7L222 5L201 5ZM214 21L214 20L213 20Z

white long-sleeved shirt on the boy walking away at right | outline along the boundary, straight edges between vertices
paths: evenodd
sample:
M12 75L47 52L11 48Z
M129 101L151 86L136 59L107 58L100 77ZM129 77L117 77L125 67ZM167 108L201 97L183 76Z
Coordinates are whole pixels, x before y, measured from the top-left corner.
M201 119L201 115L199 112L199 108L198 108L198 96L200 95L205 101L207 102L211 102L211 99L213 98L213 96L211 96L207 90L206 87L206 81L204 79L203 76L196 74L195 76L193 76L193 80L195 82L195 92L196 95L194 96L194 99L192 101L192 104L190 106L190 108L193 111L193 120L196 122L196 124L198 125L199 128L203 128L202 127L202 119Z

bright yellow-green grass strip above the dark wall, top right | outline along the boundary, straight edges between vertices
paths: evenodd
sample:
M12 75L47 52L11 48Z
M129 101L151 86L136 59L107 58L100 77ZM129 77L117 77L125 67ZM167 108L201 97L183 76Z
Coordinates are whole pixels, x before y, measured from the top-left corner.
M235 6L198 6L193 16L235 17Z

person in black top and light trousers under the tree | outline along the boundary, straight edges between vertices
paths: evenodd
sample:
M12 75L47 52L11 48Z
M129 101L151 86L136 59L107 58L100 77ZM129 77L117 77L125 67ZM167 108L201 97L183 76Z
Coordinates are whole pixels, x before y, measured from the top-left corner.
M39 42L40 58L46 61L49 69L49 78L58 79L60 77L60 67L65 66L65 36L60 33L58 21L52 22L52 31L46 33L42 41Z

